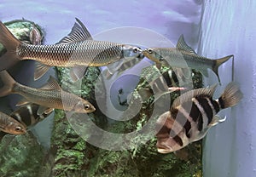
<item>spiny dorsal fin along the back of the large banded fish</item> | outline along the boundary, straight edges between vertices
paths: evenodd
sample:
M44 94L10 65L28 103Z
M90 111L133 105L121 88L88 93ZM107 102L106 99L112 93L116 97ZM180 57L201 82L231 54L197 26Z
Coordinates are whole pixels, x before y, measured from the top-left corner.
M216 87L217 87L217 84L214 84L208 88L197 88L197 89L190 90L180 95L179 97L177 97L177 99L175 99L172 103L172 108L180 106L187 101L191 101L192 98L195 98L197 96L207 96L210 98L213 96Z

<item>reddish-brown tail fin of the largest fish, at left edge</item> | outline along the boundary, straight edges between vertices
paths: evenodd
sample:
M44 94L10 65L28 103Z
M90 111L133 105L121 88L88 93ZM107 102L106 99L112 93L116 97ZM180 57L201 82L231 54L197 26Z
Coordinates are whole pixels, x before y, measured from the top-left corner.
M2 21L0 21L0 43L2 43L7 50L6 53L0 57L0 71L3 71L19 61L16 49L21 42L3 25Z

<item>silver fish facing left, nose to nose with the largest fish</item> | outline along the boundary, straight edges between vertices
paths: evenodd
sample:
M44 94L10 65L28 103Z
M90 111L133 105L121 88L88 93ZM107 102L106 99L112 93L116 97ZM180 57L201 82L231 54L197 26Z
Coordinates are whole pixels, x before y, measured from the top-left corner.
M189 47L183 35L179 37L176 48L148 48L143 50L143 55L148 57L149 60L153 60L156 64L196 69L206 77L208 77L207 68L212 69L218 77L218 83L220 83L218 67L230 60L230 58L234 60L233 54L217 60L200 56L195 53L194 49Z

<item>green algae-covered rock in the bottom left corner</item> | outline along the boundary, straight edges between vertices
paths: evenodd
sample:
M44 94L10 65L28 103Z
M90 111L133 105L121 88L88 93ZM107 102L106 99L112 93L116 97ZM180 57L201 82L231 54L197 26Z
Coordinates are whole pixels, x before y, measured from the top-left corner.
M45 153L31 132L4 136L0 144L0 176L37 176Z

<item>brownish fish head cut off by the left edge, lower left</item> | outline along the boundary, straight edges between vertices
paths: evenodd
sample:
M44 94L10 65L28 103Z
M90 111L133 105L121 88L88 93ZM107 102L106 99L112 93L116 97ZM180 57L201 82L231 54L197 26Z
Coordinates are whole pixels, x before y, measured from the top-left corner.
M8 134L25 134L26 127L15 120L13 117L9 117L7 114L0 112L0 130Z

